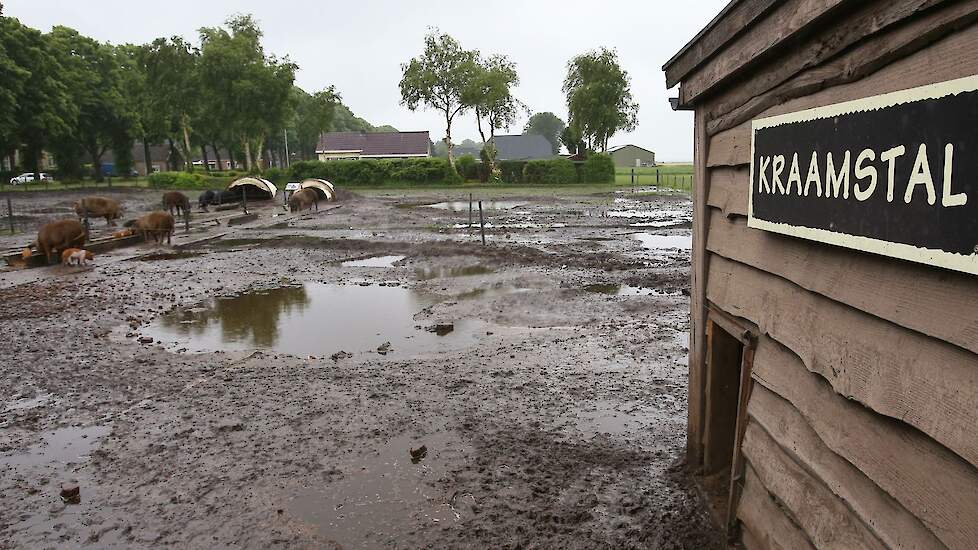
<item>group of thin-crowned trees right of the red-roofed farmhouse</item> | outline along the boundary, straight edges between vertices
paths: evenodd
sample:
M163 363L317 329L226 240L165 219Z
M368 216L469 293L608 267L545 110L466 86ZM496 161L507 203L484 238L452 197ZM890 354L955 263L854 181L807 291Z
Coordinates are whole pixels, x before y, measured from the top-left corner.
M412 111L425 106L437 110L445 120L445 144L454 166L452 124L471 112L485 147L482 161L493 172L496 130L512 126L529 109L514 95L519 85L516 65L504 55L484 57L466 50L452 36L437 29L425 37L424 51L401 66L401 103ZM563 144L571 154L606 151L608 140L637 123L638 104L631 93L628 73L613 50L601 48L571 59L562 91L568 121L552 112L530 117L524 133L540 134L550 142L554 154ZM486 133L488 132L488 139ZM497 178L498 179L498 178Z

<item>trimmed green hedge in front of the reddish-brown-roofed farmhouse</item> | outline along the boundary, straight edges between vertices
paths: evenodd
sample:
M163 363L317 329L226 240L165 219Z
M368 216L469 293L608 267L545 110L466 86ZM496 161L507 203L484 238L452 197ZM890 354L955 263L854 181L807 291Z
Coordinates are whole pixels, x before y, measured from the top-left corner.
M337 185L462 182L443 158L301 161L289 167L288 176L292 181L320 178Z

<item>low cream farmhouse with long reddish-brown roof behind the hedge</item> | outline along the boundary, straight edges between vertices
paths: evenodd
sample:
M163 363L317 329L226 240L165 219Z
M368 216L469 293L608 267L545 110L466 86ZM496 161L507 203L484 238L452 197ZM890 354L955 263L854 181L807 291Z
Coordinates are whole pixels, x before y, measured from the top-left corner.
M404 159L431 156L428 132L329 132L316 146L319 160Z

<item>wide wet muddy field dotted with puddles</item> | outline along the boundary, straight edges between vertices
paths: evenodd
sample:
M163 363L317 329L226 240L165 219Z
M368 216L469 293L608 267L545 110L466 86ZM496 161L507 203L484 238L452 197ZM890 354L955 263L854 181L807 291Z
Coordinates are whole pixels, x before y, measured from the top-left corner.
M0 272L0 547L722 547L682 464L688 199L493 197L488 246L458 199Z

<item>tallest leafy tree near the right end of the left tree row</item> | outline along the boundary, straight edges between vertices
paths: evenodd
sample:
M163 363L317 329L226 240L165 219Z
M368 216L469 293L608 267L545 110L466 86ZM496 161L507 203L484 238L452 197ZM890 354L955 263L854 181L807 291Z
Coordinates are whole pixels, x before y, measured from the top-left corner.
M296 66L265 55L261 29L250 15L226 28L200 29L200 83L204 108L241 144L245 168L259 168L264 142L290 118ZM256 159L258 162L256 162Z

